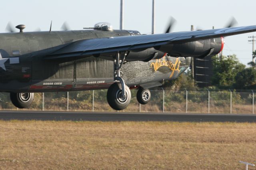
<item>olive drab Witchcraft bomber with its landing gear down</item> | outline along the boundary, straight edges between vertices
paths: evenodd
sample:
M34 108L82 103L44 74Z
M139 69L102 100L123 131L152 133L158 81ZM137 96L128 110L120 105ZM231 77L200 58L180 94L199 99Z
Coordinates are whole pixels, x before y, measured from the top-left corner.
M138 88L141 104L150 101L148 88L176 79L191 57L222 51L224 37L255 32L256 26L166 31L141 35L98 23L86 30L0 34L0 91L9 92L18 108L28 107L36 92L108 89L113 109L125 109L130 88Z

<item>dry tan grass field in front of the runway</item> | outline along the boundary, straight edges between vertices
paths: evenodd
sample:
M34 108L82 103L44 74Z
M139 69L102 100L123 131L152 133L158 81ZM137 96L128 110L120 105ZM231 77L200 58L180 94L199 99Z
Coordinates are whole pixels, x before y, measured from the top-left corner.
M3 170L244 169L255 153L255 123L0 121Z

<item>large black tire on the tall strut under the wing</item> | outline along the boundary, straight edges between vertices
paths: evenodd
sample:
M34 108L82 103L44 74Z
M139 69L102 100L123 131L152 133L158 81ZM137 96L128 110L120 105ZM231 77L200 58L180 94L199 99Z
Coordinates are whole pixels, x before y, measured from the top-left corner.
M131 101L131 91L127 85L125 86L125 92L127 97L121 101L122 99L118 98L118 95L122 93L122 85L119 82L113 83L107 92L107 101L110 107L117 111L125 109Z

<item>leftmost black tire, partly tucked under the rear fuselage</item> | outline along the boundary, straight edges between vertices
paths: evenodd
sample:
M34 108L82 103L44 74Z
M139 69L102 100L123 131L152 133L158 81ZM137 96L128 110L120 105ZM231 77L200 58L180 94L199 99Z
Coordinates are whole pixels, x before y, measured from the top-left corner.
M28 95L26 97L23 97L22 95ZM12 104L20 109L27 108L31 105L33 99L34 99L34 93L10 93L10 99L12 101Z

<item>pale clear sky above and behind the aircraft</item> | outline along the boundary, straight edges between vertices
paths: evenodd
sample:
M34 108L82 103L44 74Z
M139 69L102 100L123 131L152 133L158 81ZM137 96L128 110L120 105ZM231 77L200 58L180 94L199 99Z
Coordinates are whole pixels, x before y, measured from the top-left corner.
M256 25L255 0L155 0L156 33L166 29L170 16L177 22L173 32L189 31L195 28L222 28L232 16L238 21L237 26ZM14 26L25 24L24 31L40 28L60 30L63 22L68 22L72 30L92 27L97 22L110 22L114 29L119 29L120 0L8 0L0 5L0 32L10 21ZM152 0L124 0L124 29L151 32ZM251 60L252 44L248 36L242 34L225 38L224 55L236 54L246 64Z

